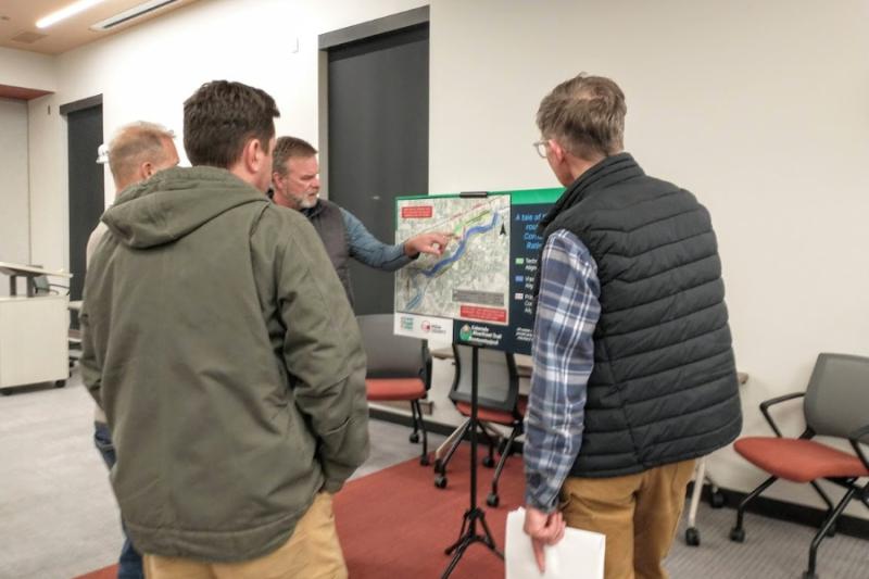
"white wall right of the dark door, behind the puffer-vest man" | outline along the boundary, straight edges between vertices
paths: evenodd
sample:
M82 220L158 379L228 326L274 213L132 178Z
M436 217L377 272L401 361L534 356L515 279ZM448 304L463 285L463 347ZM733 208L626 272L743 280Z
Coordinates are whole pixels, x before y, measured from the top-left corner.
M858 0L434 1L431 190L556 186L530 144L541 98L580 71L615 78L628 151L711 212L751 376L743 433L768 435L757 404L805 389L818 352L869 355L867 16ZM783 417L801 431L798 404ZM730 450L710 469L763 479Z

